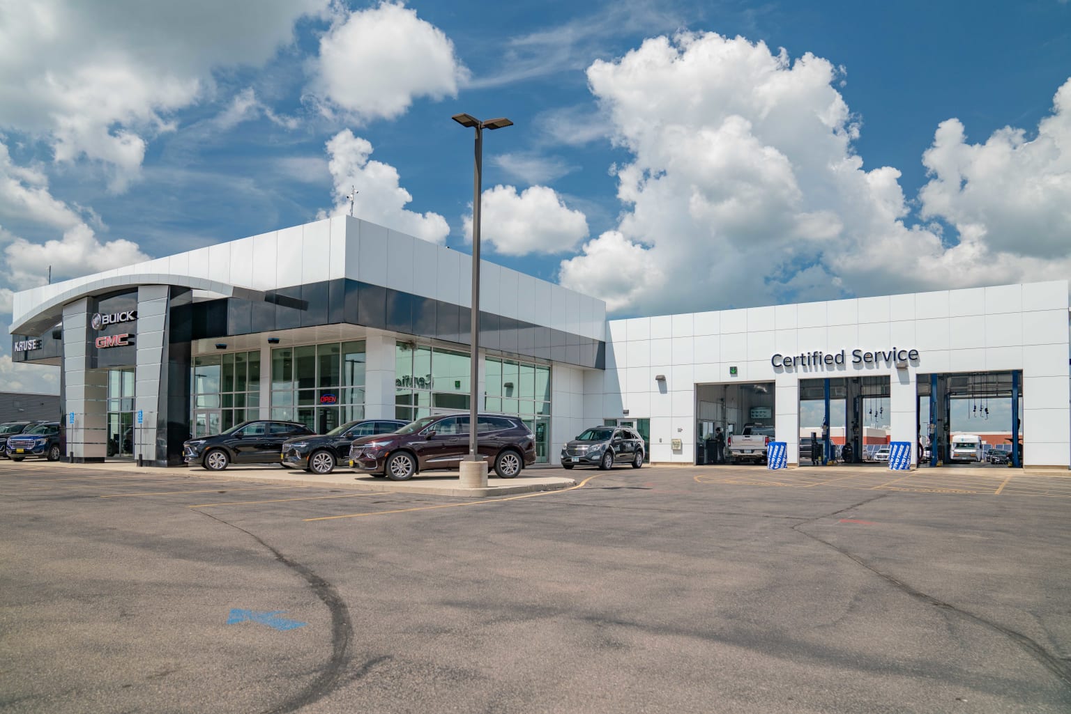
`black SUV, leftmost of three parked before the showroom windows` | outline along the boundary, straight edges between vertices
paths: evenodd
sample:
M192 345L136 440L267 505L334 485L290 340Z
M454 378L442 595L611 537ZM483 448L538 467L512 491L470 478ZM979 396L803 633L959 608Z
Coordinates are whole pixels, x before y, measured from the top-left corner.
M284 441L312 435L299 422L242 422L223 434L184 441L183 460L209 471L223 471L231 464L278 464Z

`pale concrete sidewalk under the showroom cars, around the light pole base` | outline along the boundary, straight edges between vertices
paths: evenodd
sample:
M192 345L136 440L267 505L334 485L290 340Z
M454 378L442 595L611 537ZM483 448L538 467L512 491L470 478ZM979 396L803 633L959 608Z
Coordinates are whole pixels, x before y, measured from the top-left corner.
M293 486L320 486L346 488L357 491L429 493L435 496L486 497L548 491L570 488L576 485L573 478L564 478L556 467L543 465L528 467L516 478L498 478L492 472L486 488L463 488L456 471L428 471L410 481L390 481L351 471L336 469L334 473L319 475L299 469L276 466L230 466L226 471L208 471L200 467L164 468L156 466L138 467L132 461L105 461L104 464L64 464L55 461L50 468L108 471L124 475L145 476L160 474L168 476L193 476L213 481L253 481L257 483L278 483ZM543 475L543 474L546 475ZM554 474L554 475L552 475Z

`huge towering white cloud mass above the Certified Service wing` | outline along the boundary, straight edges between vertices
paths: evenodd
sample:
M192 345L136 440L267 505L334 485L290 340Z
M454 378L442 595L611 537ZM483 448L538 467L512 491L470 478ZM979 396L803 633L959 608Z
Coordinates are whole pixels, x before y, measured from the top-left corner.
M624 211L561 263L562 285L654 313L1067 275L1071 89L1034 140L1004 130L969 146L942 124L919 223L896 168L863 168L843 72L714 33L594 62L590 89L632 155L615 168Z

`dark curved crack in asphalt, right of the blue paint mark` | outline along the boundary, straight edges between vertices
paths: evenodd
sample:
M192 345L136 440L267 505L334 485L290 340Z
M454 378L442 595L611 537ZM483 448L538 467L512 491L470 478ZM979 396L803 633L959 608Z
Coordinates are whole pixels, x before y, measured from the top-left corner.
M305 582L308 583L313 592L316 593L316 596L320 598L331 612L331 658L321 669L316 679L313 680L307 686L295 693L274 708L266 710L263 714L288 714L289 712L296 712L299 709L322 699L343 684L345 682L344 675L349 665L349 643L353 639L353 625L349 617L349 608L346 607L346 602L343 599L335 587L317 575L308 566L302 565L301 563L287 558L255 533L251 533L240 526L228 523L226 520L213 516L210 513L206 513L203 511L197 511L197 513L206 518L211 518L212 520L223 523L224 526L245 533L261 546L270 550L275 557L275 560L298 573L305 580Z

